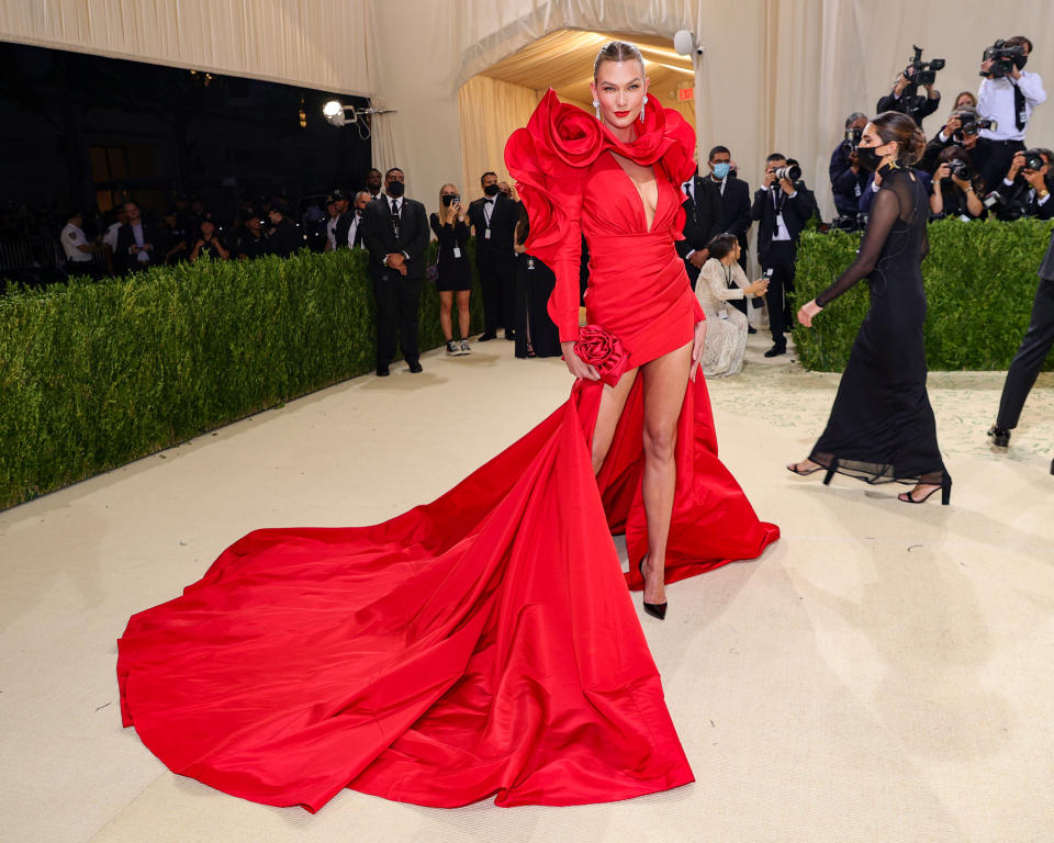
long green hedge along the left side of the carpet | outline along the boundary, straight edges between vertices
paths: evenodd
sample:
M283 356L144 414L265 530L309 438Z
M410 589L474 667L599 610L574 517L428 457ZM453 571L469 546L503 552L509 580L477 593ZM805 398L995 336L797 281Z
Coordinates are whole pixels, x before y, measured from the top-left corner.
M0 508L370 371L366 270L304 250L0 296ZM419 334L444 342L428 282Z

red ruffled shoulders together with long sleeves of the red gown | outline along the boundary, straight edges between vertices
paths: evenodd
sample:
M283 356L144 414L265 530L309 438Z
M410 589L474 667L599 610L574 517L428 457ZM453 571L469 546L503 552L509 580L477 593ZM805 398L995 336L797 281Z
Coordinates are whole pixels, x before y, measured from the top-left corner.
M582 186L590 165L612 149L643 166L660 165L676 186L695 172L695 131L681 114L649 108L644 119L638 137L623 143L582 109L560 102L550 88L526 128L516 130L505 145L505 166L530 217L527 251L557 278L549 315L561 342L579 336ZM675 238L683 239L683 227L682 209L674 220Z

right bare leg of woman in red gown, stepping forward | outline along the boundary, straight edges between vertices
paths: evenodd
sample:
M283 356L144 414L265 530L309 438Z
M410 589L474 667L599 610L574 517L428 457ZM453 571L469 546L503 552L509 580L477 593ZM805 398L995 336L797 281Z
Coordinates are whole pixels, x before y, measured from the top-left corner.
M692 363L692 344L644 363L644 473L641 492L648 520L644 602L665 603L666 539L677 482L677 419Z

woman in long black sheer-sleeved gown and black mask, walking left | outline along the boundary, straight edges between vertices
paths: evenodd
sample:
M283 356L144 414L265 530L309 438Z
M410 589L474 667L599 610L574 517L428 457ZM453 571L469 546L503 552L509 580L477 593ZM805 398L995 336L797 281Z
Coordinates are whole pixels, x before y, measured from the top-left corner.
M912 483L898 495L921 504L952 480L937 443L937 423L926 394L926 291L922 259L929 251L926 188L911 172L926 136L902 114L884 112L864 128L861 164L882 173L856 259L827 290L798 311L812 319L862 278L871 284L871 310L860 326L831 407L827 429L807 460L787 468L796 474L826 469L867 483Z

